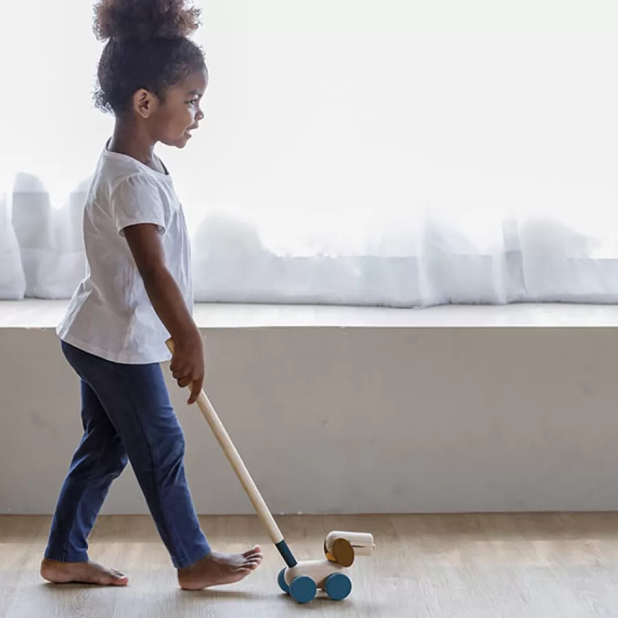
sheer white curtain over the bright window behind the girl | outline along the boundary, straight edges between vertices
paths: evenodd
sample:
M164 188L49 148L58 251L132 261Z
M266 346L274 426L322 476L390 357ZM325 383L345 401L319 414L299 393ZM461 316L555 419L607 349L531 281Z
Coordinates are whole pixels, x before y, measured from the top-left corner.
M196 300L618 300L615 0L198 5L206 119L159 152ZM7 10L0 295L68 297L101 48L88 1Z

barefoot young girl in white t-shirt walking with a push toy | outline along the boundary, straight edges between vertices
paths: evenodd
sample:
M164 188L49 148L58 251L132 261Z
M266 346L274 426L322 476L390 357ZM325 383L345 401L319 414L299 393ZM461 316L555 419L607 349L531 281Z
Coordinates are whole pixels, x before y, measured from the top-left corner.
M87 538L127 461L182 588L238 582L262 561L259 546L211 551L185 478L183 432L159 363L190 403L202 387L202 340L192 319L190 247L157 142L184 148L204 115L207 69L188 38L198 11L185 0L100 0L98 106L115 115L84 211L87 278L58 335L80 377L84 434L52 520L41 575L50 582L123 586L122 573L90 562Z

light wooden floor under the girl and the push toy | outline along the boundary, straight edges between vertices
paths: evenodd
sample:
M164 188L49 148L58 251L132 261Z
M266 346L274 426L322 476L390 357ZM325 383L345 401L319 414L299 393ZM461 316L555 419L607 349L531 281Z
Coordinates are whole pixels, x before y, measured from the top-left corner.
M319 558L331 529L370 531L378 550L352 567L344 602L297 606L277 588L281 560L254 517L204 517L211 544L260 542L265 561L244 582L176 588L147 517L104 517L91 558L123 569L124 589L53 586L38 576L49 519L0 518L0 617L276 618L295 616L569 618L618 616L618 514L337 516L280 520L297 558Z

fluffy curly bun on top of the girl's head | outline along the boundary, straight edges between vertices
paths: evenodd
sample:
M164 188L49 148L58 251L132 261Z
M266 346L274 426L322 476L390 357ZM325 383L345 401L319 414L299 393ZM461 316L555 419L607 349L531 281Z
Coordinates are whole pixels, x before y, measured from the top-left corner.
M200 10L187 0L98 0L94 32L98 39L180 38L200 25Z

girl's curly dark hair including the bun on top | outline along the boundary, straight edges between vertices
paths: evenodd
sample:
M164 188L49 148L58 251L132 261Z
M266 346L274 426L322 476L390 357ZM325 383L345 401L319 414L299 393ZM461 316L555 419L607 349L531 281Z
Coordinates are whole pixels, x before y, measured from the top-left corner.
M99 0L94 32L107 41L98 67L95 105L116 115L140 88L161 100L170 86L205 69L204 54L188 36L200 11L186 0Z

